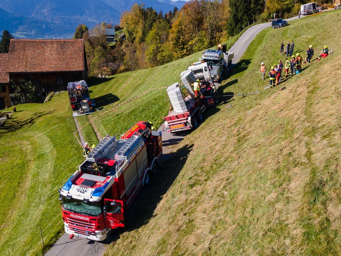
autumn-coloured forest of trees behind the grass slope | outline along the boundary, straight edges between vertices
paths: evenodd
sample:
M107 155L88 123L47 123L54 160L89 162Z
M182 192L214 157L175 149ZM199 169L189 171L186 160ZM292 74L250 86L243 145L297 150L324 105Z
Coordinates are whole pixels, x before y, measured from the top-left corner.
M178 10L157 13L134 4L121 14L120 24L102 23L76 28L74 38L84 38L89 75L103 76L163 65L212 47L238 34L249 24L297 15L306 0L191 0ZM326 1L328 2L328 1ZM324 2L319 2L323 4ZM106 28L124 28L126 40L106 42Z

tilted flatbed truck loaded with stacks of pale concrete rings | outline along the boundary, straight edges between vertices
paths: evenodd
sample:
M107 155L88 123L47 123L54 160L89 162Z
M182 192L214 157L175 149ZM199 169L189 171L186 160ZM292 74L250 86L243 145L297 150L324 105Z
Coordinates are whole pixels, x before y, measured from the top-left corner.
M207 63L205 63L205 65L207 65ZM201 79L197 77L201 77ZM209 92L209 89L212 89L212 83L205 80L205 75L197 77L194 75L193 70L186 70L181 73L182 88L185 89L185 93L181 91L181 87L178 83L167 88L167 94L173 106L173 110L164 117L165 125L163 129L166 132L179 132L192 128L195 129L198 127L199 122L203 120L203 112L207 108L215 105L212 94ZM199 98L194 97L192 88L192 84L196 79L201 80L202 97ZM184 94L186 96L184 96Z

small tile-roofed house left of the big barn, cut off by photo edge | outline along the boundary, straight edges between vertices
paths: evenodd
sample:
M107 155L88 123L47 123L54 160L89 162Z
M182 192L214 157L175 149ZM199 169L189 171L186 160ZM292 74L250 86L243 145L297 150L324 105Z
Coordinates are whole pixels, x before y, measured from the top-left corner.
M8 73L6 73L7 53L0 54L0 109L11 106Z

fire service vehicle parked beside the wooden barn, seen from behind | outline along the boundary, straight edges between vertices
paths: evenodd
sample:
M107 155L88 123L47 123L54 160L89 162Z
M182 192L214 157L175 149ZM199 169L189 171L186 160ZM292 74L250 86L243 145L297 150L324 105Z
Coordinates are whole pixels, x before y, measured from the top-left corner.
M89 88L84 80L68 83L68 94L74 117L93 112L96 104L90 99Z

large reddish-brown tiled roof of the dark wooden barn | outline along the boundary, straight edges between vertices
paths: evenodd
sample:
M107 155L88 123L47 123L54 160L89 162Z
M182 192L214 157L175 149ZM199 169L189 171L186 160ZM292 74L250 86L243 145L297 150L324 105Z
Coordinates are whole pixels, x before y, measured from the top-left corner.
M11 39L6 72L85 70L83 39Z

